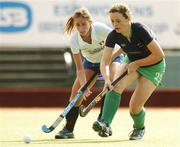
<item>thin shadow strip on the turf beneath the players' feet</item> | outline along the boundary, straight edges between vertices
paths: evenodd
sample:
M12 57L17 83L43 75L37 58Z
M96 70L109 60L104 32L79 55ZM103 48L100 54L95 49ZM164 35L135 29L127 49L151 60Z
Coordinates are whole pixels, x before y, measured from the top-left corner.
M45 140L32 140L31 144L69 144L69 143L120 143L120 142L126 142L129 141L128 139L45 139ZM4 140L0 141L1 143L24 143L24 141L18 141L18 140Z

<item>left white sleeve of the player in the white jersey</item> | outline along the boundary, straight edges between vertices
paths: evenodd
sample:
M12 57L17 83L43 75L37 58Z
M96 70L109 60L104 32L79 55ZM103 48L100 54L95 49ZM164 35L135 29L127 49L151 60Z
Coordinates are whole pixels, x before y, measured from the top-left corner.
M80 52L77 34L73 34L73 36L71 37L70 47L73 54L78 54Z

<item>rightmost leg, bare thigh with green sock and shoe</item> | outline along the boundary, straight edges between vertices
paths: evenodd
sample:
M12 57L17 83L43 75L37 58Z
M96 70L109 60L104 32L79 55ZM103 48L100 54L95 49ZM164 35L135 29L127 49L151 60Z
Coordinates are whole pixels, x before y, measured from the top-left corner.
M138 79L136 89L129 102L130 115L134 121L133 132L130 135L130 140L141 139L145 133L145 109L143 108L146 101L149 99L156 86L145 77L141 76Z

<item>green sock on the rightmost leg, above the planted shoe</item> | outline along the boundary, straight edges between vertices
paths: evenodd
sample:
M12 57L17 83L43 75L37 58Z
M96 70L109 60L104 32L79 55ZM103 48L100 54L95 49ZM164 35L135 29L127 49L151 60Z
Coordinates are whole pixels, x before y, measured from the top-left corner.
M134 125L133 125L134 128L137 128L137 129L144 128L145 114L146 114L146 111L144 108L142 108L142 110L138 114L130 113L134 121Z

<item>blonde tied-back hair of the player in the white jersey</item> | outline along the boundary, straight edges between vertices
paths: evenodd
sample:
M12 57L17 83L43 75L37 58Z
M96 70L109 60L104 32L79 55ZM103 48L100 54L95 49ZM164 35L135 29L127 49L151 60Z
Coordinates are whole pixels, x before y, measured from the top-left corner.
M74 29L74 19L78 18L78 17L82 17L87 19L88 21L92 22L92 16L90 14L90 12L86 9L86 8L80 8L78 10L76 10L73 14L73 16L71 16L65 26L65 32L67 34L71 34L71 32Z

